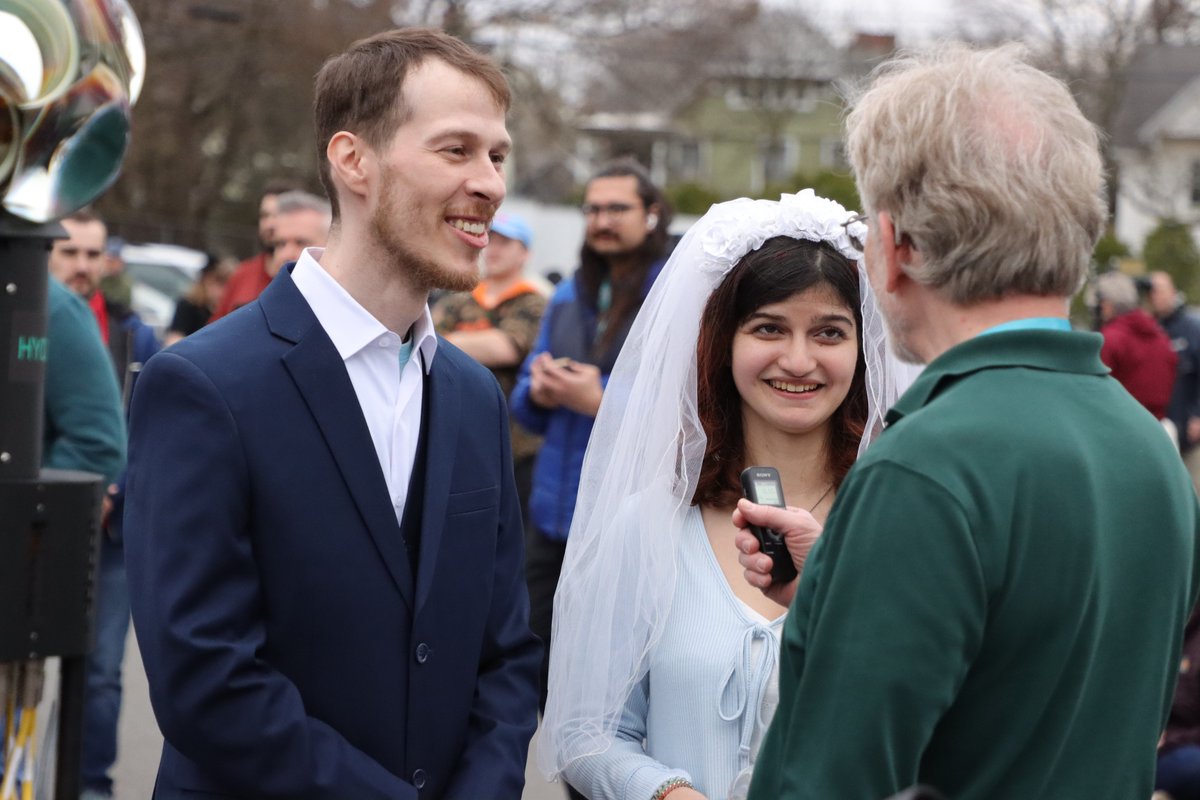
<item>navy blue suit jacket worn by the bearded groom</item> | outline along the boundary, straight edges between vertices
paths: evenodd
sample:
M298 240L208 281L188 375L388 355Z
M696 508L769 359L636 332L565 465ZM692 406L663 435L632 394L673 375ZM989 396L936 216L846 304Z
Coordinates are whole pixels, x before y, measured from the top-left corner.
M289 272L143 371L125 536L156 798L520 798L541 645L505 402L444 341L426 386L414 581Z

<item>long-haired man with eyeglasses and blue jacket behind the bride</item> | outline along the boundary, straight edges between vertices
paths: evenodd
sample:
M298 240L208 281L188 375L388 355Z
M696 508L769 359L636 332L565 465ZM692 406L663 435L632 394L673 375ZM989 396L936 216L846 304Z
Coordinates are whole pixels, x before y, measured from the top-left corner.
M511 397L521 425L545 435L529 495L526 579L530 625L547 643L592 423L670 242L671 207L636 162L600 169L588 181L582 211L587 230L580 267L554 291ZM548 664L547 649L542 705Z

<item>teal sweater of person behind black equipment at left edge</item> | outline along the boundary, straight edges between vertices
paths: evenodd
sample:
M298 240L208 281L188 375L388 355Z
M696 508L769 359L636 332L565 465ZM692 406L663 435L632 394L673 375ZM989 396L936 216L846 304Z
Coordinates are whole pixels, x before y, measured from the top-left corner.
M91 309L49 281L42 465L98 473L112 483L125 469L126 443L113 362Z

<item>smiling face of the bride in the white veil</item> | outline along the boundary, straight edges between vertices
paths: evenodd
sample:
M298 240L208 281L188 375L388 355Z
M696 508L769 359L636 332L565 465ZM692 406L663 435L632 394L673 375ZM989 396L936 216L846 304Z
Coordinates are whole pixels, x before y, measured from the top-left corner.
M829 285L754 311L733 336L733 383L746 433L823 429L858 365L854 312Z

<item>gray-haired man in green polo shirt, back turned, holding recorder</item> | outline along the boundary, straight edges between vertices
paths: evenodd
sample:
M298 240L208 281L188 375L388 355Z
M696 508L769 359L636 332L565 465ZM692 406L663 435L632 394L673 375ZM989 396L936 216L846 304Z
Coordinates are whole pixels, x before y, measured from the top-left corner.
M1097 133L1019 48L954 47L881 67L847 144L893 345L928 366L794 589L750 798L1148 798L1198 510L1067 321L1106 216Z

